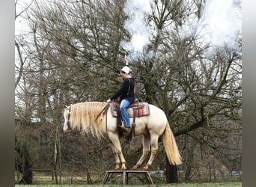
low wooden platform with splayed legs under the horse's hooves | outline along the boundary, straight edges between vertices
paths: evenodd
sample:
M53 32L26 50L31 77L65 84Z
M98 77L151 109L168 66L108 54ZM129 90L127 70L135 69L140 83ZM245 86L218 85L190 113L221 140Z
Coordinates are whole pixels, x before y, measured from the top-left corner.
M123 185L128 184L129 181L129 174L144 174L146 177L147 182L152 185L153 184L153 180L150 177L150 174L148 173L148 171L105 171L105 176L103 178L103 182L102 184L106 184L108 182L108 180L110 180L113 175L115 174L123 174Z

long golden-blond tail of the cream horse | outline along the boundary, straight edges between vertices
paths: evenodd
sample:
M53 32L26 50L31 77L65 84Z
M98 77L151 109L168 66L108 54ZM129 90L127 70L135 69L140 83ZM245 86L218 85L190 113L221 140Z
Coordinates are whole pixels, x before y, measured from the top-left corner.
M174 134L171 132L171 128L167 121L165 131L162 134L162 141L165 146L165 152L171 165L181 165L181 157L177 144L174 138Z

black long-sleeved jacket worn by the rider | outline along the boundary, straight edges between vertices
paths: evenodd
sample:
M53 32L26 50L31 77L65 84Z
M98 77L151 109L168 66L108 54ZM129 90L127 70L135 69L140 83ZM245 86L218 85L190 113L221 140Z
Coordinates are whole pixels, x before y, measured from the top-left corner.
M124 79L123 84L121 85L120 90L115 93L114 96L112 96L110 99L128 99L130 102L133 102L135 100L135 93L134 93L134 78L130 77L128 79Z

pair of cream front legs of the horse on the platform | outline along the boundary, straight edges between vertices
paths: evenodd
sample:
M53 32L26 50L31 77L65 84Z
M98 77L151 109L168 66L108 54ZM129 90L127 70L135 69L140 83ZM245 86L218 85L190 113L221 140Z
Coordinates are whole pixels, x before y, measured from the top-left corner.
M115 156L115 170L120 170L120 163L121 163L121 170L127 170L126 161L124 159L124 155L121 150L121 144L118 138L118 134L109 133L109 139L112 141L112 150Z

